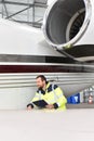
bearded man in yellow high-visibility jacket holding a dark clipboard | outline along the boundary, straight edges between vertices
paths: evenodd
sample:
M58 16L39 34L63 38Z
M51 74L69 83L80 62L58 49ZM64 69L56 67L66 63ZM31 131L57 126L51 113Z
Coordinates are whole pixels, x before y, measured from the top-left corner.
M35 98L27 105L27 110L32 110L35 106L49 110L66 110L67 100L57 85L52 85L46 81L43 75L39 75L36 80L38 90Z

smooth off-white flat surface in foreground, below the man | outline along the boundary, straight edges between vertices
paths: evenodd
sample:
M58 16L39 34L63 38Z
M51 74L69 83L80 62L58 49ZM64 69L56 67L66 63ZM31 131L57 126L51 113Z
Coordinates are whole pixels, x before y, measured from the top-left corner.
M94 108L0 111L1 141L94 140Z

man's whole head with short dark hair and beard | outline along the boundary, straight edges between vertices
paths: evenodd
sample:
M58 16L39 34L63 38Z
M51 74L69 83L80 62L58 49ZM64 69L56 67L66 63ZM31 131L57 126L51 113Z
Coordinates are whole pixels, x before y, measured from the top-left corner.
M43 75L37 76L36 80L37 80L37 87L38 88L42 88L43 89L45 87L46 78Z

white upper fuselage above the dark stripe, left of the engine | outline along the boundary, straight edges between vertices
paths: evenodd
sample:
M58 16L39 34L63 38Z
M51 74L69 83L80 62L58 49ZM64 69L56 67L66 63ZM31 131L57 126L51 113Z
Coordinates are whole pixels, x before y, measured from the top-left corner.
M41 29L2 18L0 54L61 55L45 42Z

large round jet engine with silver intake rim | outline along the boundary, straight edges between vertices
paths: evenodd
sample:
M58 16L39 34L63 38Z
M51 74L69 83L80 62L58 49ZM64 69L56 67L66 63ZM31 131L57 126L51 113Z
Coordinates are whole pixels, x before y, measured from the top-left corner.
M86 39L92 36L90 26L94 26L92 2L93 0L52 2L45 12L42 26L46 41L58 50L80 43L94 43L93 38Z

